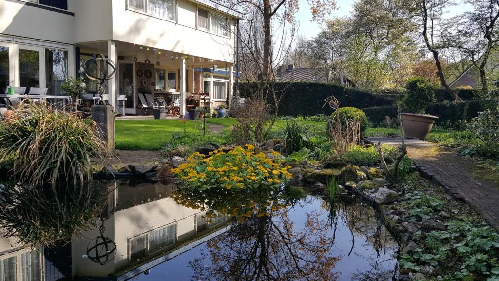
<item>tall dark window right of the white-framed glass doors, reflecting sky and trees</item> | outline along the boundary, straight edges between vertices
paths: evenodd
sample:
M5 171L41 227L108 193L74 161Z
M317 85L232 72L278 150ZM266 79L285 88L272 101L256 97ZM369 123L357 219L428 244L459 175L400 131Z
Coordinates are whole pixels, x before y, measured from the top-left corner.
M45 79L47 94L62 94L61 84L67 77L67 51L45 49Z

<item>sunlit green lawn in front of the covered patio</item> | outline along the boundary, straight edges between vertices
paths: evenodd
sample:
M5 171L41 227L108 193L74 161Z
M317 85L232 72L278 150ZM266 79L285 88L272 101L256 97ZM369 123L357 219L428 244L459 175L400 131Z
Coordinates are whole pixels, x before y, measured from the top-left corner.
M193 121L187 121L187 132L201 132L201 122L196 130ZM116 120L116 149L122 150L159 150L171 140L176 132L183 132L181 119Z

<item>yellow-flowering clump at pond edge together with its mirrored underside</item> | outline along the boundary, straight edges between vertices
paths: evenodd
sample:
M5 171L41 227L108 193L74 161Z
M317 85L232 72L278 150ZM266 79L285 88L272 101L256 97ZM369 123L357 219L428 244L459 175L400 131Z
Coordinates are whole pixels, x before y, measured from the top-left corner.
M278 152L272 154L280 159ZM263 152L255 153L250 144L228 152L217 149L209 155L195 152L186 163L172 169L182 180L175 199L192 208L208 208L208 217L217 213L239 221L260 217L286 206L282 193L291 177L289 168Z

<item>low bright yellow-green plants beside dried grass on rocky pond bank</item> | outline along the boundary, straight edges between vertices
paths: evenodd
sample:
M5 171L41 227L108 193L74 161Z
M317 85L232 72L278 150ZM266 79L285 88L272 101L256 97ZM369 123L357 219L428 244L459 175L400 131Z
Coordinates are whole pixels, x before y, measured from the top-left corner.
M392 158L397 153L397 148L383 144L383 152L385 157ZM344 156L350 165L369 166L379 163L379 153L374 146L363 147L356 145L346 152Z

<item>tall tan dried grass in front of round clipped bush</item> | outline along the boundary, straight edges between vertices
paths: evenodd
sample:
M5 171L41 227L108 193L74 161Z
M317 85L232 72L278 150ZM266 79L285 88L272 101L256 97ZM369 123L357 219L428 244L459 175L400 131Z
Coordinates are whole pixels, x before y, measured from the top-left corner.
M330 96L324 101L324 106L329 105L334 110L340 108L340 101L334 96ZM345 119L344 122L341 122L340 114L335 114L333 118L328 118L327 122L328 133L333 142L333 154L343 155L361 143L361 123L358 120Z

